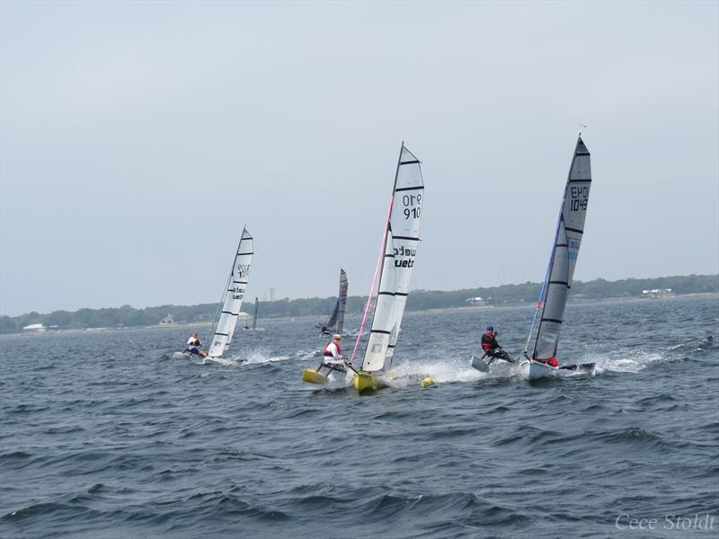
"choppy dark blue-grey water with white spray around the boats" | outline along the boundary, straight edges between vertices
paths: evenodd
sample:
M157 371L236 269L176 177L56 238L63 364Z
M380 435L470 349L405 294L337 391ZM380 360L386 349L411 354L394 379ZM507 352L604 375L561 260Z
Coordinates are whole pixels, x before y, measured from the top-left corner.
M172 359L192 328L2 338L0 536L719 536L719 298L570 305L559 357L595 376L468 366L531 314L409 314L361 396L301 382L313 321L224 365Z

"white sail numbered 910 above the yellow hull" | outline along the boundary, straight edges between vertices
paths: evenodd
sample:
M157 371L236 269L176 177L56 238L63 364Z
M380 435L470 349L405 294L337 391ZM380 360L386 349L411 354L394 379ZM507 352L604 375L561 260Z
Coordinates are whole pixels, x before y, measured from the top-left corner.
M377 305L362 360L365 372L386 371L392 364L420 241L423 192L420 162L403 144L386 222Z

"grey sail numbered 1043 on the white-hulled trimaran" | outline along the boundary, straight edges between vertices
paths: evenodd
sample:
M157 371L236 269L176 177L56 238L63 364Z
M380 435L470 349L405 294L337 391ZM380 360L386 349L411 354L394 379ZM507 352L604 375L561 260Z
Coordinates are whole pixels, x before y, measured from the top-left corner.
M567 303L567 294L572 287L574 266L577 263L581 236L584 232L590 185L590 153L580 136L574 149L569 178L564 187L555 243L542 288L540 302L544 301L544 307L539 318L537 340L535 340L532 352L533 359L550 359L556 356L559 331L562 328L564 317L564 305Z

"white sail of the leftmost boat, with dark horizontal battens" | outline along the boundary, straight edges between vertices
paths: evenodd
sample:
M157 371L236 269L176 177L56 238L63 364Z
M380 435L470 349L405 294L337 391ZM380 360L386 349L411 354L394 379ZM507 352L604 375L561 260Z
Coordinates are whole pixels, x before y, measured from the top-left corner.
M227 279L227 286L222 298L222 311L215 326L212 344L209 346L208 355L211 358L221 358L232 341L237 317L242 307L244 289L247 287L250 276L253 251L253 237L247 232L246 228L243 228L240 244L237 246L235 254L235 261L233 261L232 271L230 271L230 277Z

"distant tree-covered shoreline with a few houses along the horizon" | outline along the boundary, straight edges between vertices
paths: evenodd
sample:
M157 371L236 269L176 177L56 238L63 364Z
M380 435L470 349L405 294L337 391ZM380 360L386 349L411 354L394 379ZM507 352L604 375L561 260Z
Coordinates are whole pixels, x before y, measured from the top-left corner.
M673 294L701 294L719 292L719 275L688 275L661 278L626 278L608 281L602 278L574 281L570 301L596 301L609 298L640 297L644 290L671 289ZM445 309L468 305L521 305L536 302L541 283L526 282L501 287L466 288L462 290L413 290L407 301L408 311ZM481 298L481 300L479 299ZM322 322L332 311L335 297L284 298L262 301L261 318L317 316ZM349 296L347 314L361 314L367 296ZM156 325L168 314L174 323L209 323L217 314L217 304L160 305L135 309L130 305L119 308L79 309L75 312L55 311L49 314L28 313L20 316L0 316L0 333L14 333L31 324L42 324L52 330L145 327ZM244 311L252 314L254 305L244 304Z

